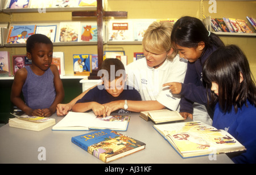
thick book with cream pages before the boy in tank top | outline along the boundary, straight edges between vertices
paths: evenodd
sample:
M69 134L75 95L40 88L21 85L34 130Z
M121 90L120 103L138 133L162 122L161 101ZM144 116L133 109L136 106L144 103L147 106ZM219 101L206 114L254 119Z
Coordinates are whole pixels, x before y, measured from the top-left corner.
M47 127L55 125L55 119L49 117L38 116L17 116L13 114L15 118L9 118L9 126L19 129L26 129L32 131L42 131Z

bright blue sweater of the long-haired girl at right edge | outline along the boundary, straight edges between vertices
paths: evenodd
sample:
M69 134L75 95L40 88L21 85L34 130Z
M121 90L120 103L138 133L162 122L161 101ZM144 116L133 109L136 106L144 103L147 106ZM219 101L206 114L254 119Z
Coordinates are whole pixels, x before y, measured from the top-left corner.
M213 126L228 131L246 148L245 153L233 157L234 163L256 163L256 108L247 101L235 113L223 113L217 104L214 110Z

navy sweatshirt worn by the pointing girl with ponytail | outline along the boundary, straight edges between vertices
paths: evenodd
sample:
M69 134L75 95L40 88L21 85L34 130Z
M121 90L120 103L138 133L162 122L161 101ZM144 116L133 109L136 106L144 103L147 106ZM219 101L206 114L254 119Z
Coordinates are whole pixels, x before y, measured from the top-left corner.
M193 114L193 103L207 105L207 89L204 86L202 71L203 64L216 47L208 48L195 62L188 62L188 69L181 88L180 112ZM210 89L208 89L210 93Z

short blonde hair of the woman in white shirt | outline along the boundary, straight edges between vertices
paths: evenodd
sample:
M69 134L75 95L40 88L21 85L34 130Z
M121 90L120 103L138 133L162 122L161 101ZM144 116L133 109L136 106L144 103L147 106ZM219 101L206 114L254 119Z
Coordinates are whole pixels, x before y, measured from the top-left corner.
M152 53L169 52L172 47L171 32L173 24L170 22L153 22L144 33L142 46L145 50ZM177 54L174 49L168 59L173 59Z

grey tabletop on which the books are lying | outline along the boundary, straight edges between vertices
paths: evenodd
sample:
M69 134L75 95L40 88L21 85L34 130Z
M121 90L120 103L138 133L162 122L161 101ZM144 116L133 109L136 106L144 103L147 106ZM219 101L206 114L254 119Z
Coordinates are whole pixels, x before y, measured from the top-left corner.
M138 113L131 113L127 131L120 133L146 143L146 148L132 155L112 161L110 164L232 164L233 161L222 153L216 159L200 156L183 159L170 144L152 127L154 123L144 121ZM53 114L56 123L63 117ZM9 127L0 127L0 163L1 164L105 164L93 155L71 142L72 136L90 133L90 131L52 131L48 127L42 131L30 131ZM45 160L42 160L42 154Z

